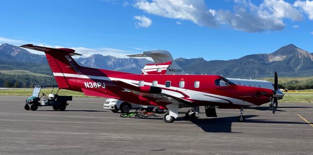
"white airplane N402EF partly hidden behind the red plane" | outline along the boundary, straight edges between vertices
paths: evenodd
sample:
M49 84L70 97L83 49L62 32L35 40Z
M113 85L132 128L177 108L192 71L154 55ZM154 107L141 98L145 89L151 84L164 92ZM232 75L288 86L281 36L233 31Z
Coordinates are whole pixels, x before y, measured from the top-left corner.
M155 66L153 64L146 65L142 71L145 74L145 71L154 71L153 69L157 69L162 67L163 70L167 67L166 63L172 62L170 66L167 67L165 74L186 74L186 72L174 61L170 52L165 50L152 50L152 51L145 51L142 54L134 54L134 55L127 55L129 57L140 58L140 57L150 57L154 61ZM158 65L158 66L156 66ZM265 88L265 89L272 89L274 90L274 84L264 80L252 80L252 79L236 79L236 78L226 78L231 82L235 83L236 85L241 86L250 86L250 87L258 87L258 88ZM269 107L273 106L273 102L269 103Z

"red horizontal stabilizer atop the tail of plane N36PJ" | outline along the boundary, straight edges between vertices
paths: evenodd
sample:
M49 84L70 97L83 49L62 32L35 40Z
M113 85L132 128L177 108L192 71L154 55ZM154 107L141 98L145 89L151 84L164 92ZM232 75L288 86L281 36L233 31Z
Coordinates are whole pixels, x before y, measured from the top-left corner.
M50 48L50 47L43 47L43 46L36 46L33 44L24 44L20 47L23 48L28 48L28 49L33 49L33 50L38 50L38 51L42 51L42 52L50 52L50 51L56 51L56 52L67 52L69 53L69 55L81 55L79 53L75 53L74 49L70 49L70 48Z

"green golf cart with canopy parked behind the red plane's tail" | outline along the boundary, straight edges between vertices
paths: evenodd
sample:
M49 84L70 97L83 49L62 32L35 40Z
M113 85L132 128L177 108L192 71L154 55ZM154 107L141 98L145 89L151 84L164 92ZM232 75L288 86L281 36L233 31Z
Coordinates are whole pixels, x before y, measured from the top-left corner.
M42 93L40 97L40 91L42 88L52 88L50 94L48 96L45 93ZM32 110L36 111L38 107L42 106L52 106L55 111L65 111L67 106L69 105L67 101L72 100L72 96L59 96L58 91L53 94L54 88L58 88L58 86L50 86L50 85L39 85L34 87L33 94L27 98L24 109L26 111Z

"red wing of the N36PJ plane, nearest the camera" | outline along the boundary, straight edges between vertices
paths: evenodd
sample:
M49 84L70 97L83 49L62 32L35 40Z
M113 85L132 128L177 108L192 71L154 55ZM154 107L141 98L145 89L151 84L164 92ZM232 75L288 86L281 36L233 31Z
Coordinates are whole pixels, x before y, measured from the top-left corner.
M187 105L195 107L196 105L193 103L192 100L187 98L180 98L176 96L172 96L169 94L162 93L162 89L159 87L153 86L135 86L132 84L128 84L123 81L115 80L113 83L120 88L124 89L125 91L132 92L136 94L139 99L143 101L148 101L154 106L166 106L168 104L179 104L179 105Z

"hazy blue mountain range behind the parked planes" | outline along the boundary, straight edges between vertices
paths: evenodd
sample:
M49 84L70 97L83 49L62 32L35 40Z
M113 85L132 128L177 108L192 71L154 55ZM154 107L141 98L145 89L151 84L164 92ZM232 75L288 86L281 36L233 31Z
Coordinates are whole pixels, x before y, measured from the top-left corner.
M9 65L6 65L8 62L11 65L14 64L12 62L19 62L28 65L37 63L37 65L47 66L45 55L33 54L11 44L0 45L0 60L2 64L0 64L0 70L8 70L1 68L10 68ZM145 64L152 63L147 59L116 58L101 54L91 55L86 58L81 57L76 61L84 66L132 73L141 73L141 68ZM313 53L309 53L293 44L283 46L270 54L252 54L227 61L178 58L175 62L190 74L216 74L231 78L263 78L271 77L273 72L277 71L281 77L313 76ZM16 69L18 66L14 66L14 68ZM36 72L34 67L32 71ZM40 73L43 73L43 71L41 70Z

